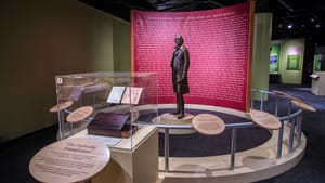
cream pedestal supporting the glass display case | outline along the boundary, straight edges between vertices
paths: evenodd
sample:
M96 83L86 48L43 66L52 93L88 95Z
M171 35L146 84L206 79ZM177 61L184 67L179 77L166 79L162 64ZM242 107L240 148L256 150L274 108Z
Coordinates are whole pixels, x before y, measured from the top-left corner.
M72 138L87 136L83 130ZM110 160L92 183L153 183L158 179L158 129L140 128L131 141L121 139L109 146Z

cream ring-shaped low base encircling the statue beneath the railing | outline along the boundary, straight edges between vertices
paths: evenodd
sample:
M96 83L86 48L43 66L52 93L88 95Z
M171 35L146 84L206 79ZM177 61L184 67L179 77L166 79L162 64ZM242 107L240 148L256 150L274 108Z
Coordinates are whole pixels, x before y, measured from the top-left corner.
M164 107L168 108L170 106L159 105L159 108ZM216 106L186 105L186 108L188 110L199 108L212 113L218 112L236 117L249 118L247 113ZM257 182L281 174L295 167L302 159L307 140L303 133L300 142L295 138L295 151L288 153L290 129L289 127L284 126L282 158L278 159L278 130L271 130L270 132L272 134L271 138L261 145L236 152L234 170L231 170L231 156L229 154L204 157L169 157L168 172L166 172L165 167L166 159L160 156L159 179L156 183L243 183ZM238 132L238 134L240 134L240 132ZM223 133L220 135L223 135Z

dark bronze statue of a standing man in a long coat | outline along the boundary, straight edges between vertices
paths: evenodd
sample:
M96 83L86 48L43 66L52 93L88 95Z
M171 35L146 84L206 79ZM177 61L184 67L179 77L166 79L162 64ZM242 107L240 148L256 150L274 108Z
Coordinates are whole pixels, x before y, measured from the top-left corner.
M187 70L190 67L188 50L183 45L184 40L181 35L174 38L176 47L172 54L170 67L172 70L172 87L177 95L177 112L178 119L184 117L184 97L183 94L190 93L187 83Z

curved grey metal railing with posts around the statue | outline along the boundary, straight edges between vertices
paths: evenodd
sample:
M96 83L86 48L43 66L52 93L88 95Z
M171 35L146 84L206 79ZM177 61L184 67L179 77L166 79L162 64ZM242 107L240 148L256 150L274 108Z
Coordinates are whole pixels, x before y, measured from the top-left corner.
M259 107L260 110L264 110L265 108L265 101L269 101L268 97L272 96L275 97L275 103L273 107L273 114L274 116L277 117L277 119L281 121L281 128L278 130L278 142L277 142L277 159L282 158L282 146L283 146L283 133L284 133L284 125L285 122L290 123L290 133L289 133L289 148L288 153L294 152L294 138L295 138L295 129L297 126L297 136L298 136L298 143L301 141L301 123L302 123L302 109L297 109L296 112L292 113L292 106L291 106L291 100L278 95L274 92L265 91L265 90L257 90L252 89L251 90L251 95L255 95L256 93L259 93L259 102L253 100L251 97L251 107L255 108L256 106ZM286 107L287 107L287 115L285 116L278 116L278 109L280 109L280 100L285 100ZM283 107L283 106L282 106ZM237 141L237 129L238 128L251 128L256 127L257 125L248 120L247 122L237 122L237 123L225 123L226 129L231 129L231 159L230 159L230 170L234 170L234 165L235 165L235 153L236 153L236 141ZM157 123L157 127L159 129L165 130L165 172L169 171L169 130L170 129L193 129L192 125L160 125Z

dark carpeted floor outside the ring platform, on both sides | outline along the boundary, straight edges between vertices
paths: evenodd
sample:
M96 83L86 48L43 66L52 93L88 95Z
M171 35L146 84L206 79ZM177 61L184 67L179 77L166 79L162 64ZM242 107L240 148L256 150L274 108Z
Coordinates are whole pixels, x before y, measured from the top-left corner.
M302 130L308 144L302 161L294 169L259 183L323 183L325 181L325 97L312 94L310 88L304 86L272 84L270 90L280 90L300 97L314 106L317 112L303 114ZM1 145L0 182L36 182L28 172L29 160L40 148L55 141L56 130L57 127L53 126ZM171 154L179 153L177 152L179 149L174 151Z

